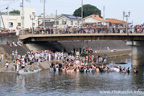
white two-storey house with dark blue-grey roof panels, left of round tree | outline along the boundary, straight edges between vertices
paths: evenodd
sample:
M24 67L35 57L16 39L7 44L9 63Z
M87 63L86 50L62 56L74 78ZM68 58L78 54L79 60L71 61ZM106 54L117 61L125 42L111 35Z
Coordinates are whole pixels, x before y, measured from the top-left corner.
M65 28L67 26L69 27L80 26L81 24L81 18L68 14L62 14L56 19L56 21L57 25L55 24L54 27L57 26L59 28Z

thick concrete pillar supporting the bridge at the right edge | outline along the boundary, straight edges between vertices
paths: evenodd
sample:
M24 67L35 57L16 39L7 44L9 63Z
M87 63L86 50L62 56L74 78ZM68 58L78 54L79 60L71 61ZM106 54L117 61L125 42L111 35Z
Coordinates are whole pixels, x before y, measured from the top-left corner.
M132 65L144 64L144 41L127 41L127 45L132 47Z

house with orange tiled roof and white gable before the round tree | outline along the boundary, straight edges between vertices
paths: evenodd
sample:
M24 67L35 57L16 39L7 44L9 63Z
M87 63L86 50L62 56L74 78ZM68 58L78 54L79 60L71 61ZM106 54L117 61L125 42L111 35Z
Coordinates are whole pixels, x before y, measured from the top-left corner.
M97 14L92 14L83 19L85 24L108 25L107 20L101 18Z

